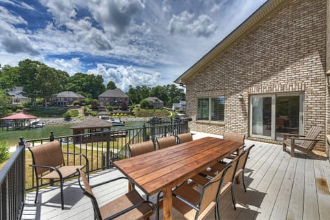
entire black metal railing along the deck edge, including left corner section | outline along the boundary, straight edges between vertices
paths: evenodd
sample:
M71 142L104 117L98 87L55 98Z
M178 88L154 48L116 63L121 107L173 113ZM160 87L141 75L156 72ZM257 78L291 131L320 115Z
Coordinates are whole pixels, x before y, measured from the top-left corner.
M130 157L129 144L152 140L157 149L157 137L177 135L188 132L186 119L152 119L139 128L117 129L79 135L50 137L19 142L17 151L10 157L0 171L0 219L20 219L24 206L24 195L27 190L36 188L34 170L30 151L25 151L28 146L43 144L44 142L58 141L63 152L83 153L89 159L89 172L110 168L113 160ZM26 162L25 162L26 160ZM65 156L66 165L84 164L81 156ZM43 181L39 186L51 186L52 181Z

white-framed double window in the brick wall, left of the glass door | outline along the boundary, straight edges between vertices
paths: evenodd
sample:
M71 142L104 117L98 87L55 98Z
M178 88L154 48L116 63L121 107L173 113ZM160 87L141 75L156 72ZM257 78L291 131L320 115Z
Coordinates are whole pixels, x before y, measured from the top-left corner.
M225 97L199 98L197 103L197 120L224 122Z

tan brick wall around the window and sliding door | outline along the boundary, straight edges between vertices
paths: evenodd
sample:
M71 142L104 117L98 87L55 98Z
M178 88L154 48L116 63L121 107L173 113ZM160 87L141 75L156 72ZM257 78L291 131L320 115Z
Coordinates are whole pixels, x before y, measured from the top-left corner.
M190 129L248 135L249 96L284 92L305 93L305 131L325 128L326 14L327 0L286 1L192 76L186 87ZM225 95L225 122L196 122L197 98L208 93Z

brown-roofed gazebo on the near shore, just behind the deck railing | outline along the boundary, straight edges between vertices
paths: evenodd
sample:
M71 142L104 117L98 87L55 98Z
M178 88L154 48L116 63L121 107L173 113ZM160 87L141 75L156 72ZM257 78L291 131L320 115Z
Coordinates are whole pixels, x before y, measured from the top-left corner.
M111 129L111 122L107 120L102 120L100 118L88 118L87 120L81 122L80 124L77 124L75 126L72 126L72 131L74 135L80 135L84 133L94 133L94 132L100 132L100 131L110 131ZM81 139L81 140L80 140ZM91 142L91 141L104 141L107 140L106 135L81 135L81 138L76 136L74 138L74 143L80 142Z

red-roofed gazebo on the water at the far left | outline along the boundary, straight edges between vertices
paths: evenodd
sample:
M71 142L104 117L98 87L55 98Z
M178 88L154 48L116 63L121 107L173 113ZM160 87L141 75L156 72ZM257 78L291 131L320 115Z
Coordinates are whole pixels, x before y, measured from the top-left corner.
M32 127L31 120L36 120L36 116L25 113L16 113L7 117L0 118L1 124L9 129L30 129ZM3 129L2 126L2 129Z

